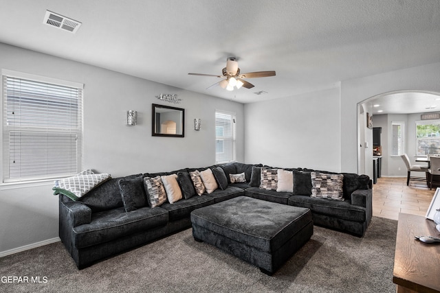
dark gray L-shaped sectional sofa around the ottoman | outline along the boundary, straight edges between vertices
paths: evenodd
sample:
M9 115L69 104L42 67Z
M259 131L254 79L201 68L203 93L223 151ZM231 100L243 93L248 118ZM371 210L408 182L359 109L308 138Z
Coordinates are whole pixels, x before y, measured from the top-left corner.
M368 176L344 174L344 200L340 201L312 198L309 194L298 194L296 189L293 192L260 189L261 164L228 163L210 168L214 167L221 167L228 179L228 185L224 190L219 188L211 194L205 193L188 199L183 198L173 204L164 202L154 208L145 204L127 212L127 202L124 202L121 196L121 188L124 187L132 193L148 197L142 185L142 178L178 174L196 169L203 171L207 167L111 178L89 191L78 201L60 194L59 235L61 241L72 255L76 266L80 269L85 268L100 259L189 228L191 211L238 196L250 196L270 202L309 208L314 224L360 237L364 235L371 221L372 190ZM287 170L297 174L296 177L294 175L294 183L299 186L305 182L308 188L310 172L313 170L300 168ZM245 174L246 182L231 183L229 174L240 173ZM330 172L323 173L331 174Z

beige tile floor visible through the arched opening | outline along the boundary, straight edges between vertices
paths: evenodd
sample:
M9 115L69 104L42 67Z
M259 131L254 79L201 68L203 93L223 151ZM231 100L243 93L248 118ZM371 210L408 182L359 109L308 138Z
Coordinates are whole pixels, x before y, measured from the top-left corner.
M373 185L373 215L397 220L399 213L426 215L435 189L406 178L381 177Z

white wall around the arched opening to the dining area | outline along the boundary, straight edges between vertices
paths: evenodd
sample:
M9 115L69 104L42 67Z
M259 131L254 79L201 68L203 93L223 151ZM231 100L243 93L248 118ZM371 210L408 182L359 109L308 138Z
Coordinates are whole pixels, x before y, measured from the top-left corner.
M341 82L341 169L358 172L357 104L382 93L419 90L440 92L440 62ZM371 174L366 173L369 176Z

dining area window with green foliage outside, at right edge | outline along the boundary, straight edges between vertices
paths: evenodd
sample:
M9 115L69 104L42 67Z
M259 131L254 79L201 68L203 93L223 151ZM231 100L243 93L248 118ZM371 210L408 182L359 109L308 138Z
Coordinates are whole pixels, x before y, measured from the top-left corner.
M440 121L425 120L415 122L416 154L440 154Z

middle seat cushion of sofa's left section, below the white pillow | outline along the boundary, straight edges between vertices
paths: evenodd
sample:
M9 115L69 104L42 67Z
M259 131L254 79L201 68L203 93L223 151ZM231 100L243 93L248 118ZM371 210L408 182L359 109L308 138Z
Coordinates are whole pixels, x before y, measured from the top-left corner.
M162 204L161 209L168 211L170 221L179 220L181 218L189 218L190 213L195 209L206 207L214 203L214 198L203 194L201 196L192 196L189 200L179 200L174 204L168 202Z

